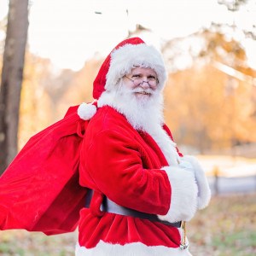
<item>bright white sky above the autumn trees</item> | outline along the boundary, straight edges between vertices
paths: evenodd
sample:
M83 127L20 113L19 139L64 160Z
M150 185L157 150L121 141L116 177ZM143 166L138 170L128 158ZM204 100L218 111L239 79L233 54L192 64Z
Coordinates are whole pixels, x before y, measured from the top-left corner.
M0 19L8 13L0 2ZM100 14L98 14L100 13ZM108 55L116 44L141 24L152 31L147 44L188 36L212 22L256 25L256 1L230 12L218 0L31 0L28 45L32 53L49 58L56 67L79 70L96 52ZM256 41L233 34L245 47L248 63L256 69ZM3 39L3 34L0 34Z

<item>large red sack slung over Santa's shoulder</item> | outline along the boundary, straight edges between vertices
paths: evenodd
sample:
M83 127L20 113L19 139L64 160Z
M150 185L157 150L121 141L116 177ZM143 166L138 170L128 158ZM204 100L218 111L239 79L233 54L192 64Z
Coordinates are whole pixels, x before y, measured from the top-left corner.
M79 158L88 125L77 108L33 136L0 177L0 230L55 235L76 229L86 195Z

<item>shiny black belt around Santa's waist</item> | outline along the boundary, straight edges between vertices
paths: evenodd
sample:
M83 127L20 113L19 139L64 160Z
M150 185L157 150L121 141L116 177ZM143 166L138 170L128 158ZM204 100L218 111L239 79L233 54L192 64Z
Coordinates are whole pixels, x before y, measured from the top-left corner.
M90 201L91 201L91 198L93 195L93 191L94 191L93 189L88 189L88 191L87 191L85 206L84 206L86 208L90 208ZM150 221L156 221L161 224L166 224L166 225L176 227L176 228L181 227L181 221L171 223L166 220L160 220L160 218L158 218L158 216L155 214L139 212L139 211L133 210L131 208L121 207L118 204L116 204L115 202L108 199L107 196L104 196L104 199L102 201L101 210L102 210L102 212L112 212L112 213L116 213L116 214L120 214L120 215L124 215L124 216L131 216L134 218L148 219Z

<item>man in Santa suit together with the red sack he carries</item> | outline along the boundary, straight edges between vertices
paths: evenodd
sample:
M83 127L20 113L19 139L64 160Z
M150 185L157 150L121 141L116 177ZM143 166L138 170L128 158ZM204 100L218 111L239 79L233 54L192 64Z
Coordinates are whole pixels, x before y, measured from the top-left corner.
M32 137L3 173L0 230L53 235L79 223L77 256L191 255L185 222L211 193L165 125L166 78L142 39L115 47L94 82L96 101Z

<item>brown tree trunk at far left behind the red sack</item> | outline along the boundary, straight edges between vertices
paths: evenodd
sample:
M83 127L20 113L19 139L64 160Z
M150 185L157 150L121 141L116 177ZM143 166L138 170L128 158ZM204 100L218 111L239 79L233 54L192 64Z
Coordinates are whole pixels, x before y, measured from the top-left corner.
M0 175L17 154L27 27L28 0L9 0L0 88Z

